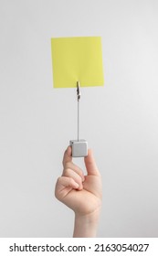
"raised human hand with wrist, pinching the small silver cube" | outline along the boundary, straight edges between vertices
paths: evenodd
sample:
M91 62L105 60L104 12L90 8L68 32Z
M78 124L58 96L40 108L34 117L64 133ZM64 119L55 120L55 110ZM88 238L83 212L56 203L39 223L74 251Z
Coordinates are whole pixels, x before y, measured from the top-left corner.
M90 149L84 161L86 176L79 166L72 163L71 147L68 146L63 158L63 174L58 178L55 195L75 212L74 236L91 237L95 236L100 215L101 178ZM81 231L80 223L89 230Z

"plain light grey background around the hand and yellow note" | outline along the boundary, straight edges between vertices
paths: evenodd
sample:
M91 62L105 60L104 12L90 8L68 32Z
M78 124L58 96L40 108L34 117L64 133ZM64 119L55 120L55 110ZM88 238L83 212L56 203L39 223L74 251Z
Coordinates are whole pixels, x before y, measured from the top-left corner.
M54 187L76 91L52 88L50 37L75 36L102 37L105 86L83 88L80 110L102 176L98 236L157 237L156 0L0 1L0 236L72 235Z

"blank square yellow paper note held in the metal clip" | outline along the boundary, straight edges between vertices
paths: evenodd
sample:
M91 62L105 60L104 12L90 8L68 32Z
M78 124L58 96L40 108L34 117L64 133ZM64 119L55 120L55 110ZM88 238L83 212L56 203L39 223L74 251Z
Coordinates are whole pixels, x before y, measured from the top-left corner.
M51 38L54 88L104 84L101 37Z

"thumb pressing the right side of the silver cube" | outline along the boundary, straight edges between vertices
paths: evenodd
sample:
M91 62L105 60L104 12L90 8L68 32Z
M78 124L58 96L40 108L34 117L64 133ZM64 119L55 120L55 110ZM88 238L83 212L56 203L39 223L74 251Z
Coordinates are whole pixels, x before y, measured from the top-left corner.
M96 162L95 162L95 159L94 159L94 156L92 154L91 149L89 149L88 156L86 156L84 158L84 161L85 161L85 165L86 165L86 168L87 168L88 175L100 176L100 172L99 172L99 169L96 165Z

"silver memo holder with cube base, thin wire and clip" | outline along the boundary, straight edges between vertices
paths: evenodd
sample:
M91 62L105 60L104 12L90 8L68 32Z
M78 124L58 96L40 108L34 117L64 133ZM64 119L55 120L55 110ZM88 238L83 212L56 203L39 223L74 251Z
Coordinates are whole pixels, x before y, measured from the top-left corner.
M78 140L71 140L69 142L72 147L72 157L84 157L88 155L88 142L85 140L79 140L79 101L80 101L80 86L77 81L77 100L78 100Z

